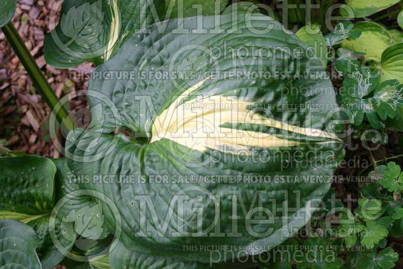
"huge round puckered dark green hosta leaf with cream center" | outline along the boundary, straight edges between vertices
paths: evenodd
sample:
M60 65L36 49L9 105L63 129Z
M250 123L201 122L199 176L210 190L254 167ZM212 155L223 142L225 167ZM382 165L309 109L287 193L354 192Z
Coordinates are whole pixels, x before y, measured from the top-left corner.
M208 251L184 246L258 254L264 250L257 246L276 246L303 227L311 202L330 187L343 142L330 128L338 108L330 81L315 75L320 61L287 52L307 45L269 17L233 19L154 25L129 38L90 80L93 129L72 131L66 156L87 177L80 188L116 206L103 208L105 224L113 231L122 218L119 239L129 251L204 263ZM181 28L189 31L175 32ZM245 52L256 47L271 56ZM139 139L113 134L120 127ZM229 259L220 253L218 261Z

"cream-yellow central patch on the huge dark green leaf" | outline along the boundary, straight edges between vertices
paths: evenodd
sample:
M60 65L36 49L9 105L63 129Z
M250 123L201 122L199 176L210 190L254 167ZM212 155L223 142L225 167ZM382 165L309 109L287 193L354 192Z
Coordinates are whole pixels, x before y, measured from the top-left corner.
M184 101L184 98L188 97L191 92L198 89L208 79L186 90L156 117L150 143L165 138L198 151L205 151L210 148L220 151L242 151L249 154L251 154L249 152L250 147L293 147L303 144L299 141L278 138L272 133L220 127L224 123L258 124L311 138L342 142L334 133L314 128L303 128L266 118L249 109L254 105L253 103L239 98L214 95L204 98L196 96L189 101Z

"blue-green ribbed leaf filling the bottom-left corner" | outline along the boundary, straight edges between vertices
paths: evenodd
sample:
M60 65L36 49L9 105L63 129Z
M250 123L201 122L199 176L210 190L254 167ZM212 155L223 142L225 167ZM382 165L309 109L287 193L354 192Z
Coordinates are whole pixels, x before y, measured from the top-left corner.
M39 238L28 225L0 220L0 267L42 268L35 252Z

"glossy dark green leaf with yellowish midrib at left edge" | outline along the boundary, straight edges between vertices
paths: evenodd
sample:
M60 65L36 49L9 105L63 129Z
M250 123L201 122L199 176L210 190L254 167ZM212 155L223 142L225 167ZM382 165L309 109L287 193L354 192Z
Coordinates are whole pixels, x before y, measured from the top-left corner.
M0 219L18 220L35 229L39 236L37 252L45 267L57 265L63 256L52 248L48 232L54 205L56 167L38 156L0 158Z

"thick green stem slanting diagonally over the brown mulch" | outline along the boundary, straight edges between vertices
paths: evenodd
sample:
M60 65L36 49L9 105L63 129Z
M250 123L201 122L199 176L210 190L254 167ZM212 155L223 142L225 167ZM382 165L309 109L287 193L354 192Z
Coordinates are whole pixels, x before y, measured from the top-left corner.
M53 92L46 78L43 76L42 71L40 70L38 64L36 64L35 59L32 57L13 23L9 22L4 27L2 27L2 30L7 37L7 40L13 47L18 58L20 59L21 63L24 65L25 70L32 79L35 87L38 89L40 95L45 100L46 104L50 107L52 113L57 113L55 116L59 121L62 129L66 132L72 130L74 128L73 119L64 109L64 107L59 103L59 99Z

